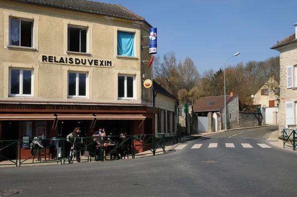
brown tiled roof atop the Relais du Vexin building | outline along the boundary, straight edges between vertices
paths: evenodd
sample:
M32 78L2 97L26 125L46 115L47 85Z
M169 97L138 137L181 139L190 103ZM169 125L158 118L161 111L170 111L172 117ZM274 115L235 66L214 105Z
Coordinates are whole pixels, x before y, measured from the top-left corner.
M145 18L129 11L120 4L102 3L91 0L15 0L62 9L100 14L118 18L145 21Z

